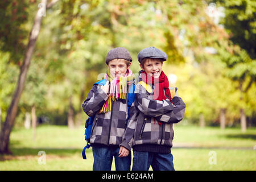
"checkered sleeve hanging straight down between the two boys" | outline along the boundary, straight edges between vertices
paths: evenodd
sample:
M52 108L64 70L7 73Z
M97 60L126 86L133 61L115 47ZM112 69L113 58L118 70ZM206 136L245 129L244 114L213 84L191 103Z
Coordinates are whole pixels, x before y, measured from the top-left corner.
M127 127L123 134L122 143L119 144L119 146L123 146L128 150L131 150L131 147L133 146L134 130L139 115L139 111L136 109L134 102L129 109L129 115L130 117L127 121Z

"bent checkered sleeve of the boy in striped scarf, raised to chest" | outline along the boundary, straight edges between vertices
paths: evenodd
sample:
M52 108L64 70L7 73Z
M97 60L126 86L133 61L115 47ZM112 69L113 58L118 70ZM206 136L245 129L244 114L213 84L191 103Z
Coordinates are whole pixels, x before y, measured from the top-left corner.
M102 108L108 97L108 94L100 88L100 85L93 85L82 104L82 109L87 115L93 116Z

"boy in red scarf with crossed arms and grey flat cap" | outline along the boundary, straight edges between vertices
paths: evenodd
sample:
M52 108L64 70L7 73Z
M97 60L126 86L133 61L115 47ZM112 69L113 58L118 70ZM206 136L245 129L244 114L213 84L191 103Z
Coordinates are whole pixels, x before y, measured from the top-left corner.
M169 81L162 71L167 55L155 47L138 54L142 68L135 88L135 102L131 106L125 137L120 146L133 147L133 170L174 170L171 154L174 130L172 124L180 122L185 104L177 94L172 97Z

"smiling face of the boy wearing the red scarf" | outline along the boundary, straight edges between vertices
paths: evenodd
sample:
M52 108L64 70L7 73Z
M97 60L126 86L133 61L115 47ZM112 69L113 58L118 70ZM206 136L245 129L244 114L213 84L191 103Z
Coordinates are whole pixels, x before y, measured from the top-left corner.
M139 64L143 71L150 76L158 78L162 72L163 61L160 59L146 59L143 65Z

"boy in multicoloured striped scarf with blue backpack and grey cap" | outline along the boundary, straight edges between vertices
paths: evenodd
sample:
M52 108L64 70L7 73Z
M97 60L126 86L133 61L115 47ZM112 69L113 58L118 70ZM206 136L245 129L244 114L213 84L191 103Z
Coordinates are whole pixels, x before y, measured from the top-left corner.
M131 86L134 84L134 75L129 69L131 61L126 48L111 49L106 56L105 79L93 85L82 104L89 117L95 116L89 141L94 171L110 171L113 158L116 170L130 171L131 154L119 144L126 130L129 102L134 101L129 97L134 95L135 87Z

